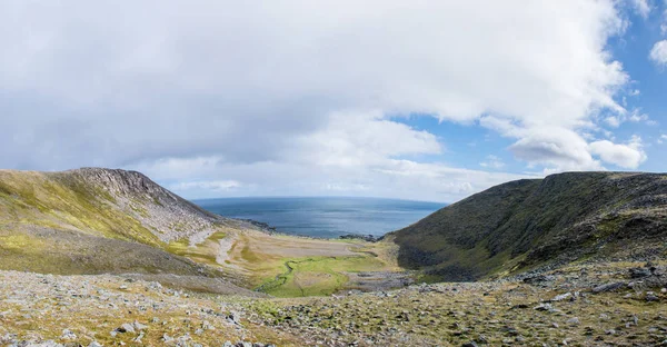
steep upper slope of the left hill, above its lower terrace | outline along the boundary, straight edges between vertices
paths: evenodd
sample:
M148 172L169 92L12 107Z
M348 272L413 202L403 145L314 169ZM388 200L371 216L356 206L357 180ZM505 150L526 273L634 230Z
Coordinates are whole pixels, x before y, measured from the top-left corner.
M158 246L210 235L223 219L142 174L84 168L0 171L0 222L76 229Z

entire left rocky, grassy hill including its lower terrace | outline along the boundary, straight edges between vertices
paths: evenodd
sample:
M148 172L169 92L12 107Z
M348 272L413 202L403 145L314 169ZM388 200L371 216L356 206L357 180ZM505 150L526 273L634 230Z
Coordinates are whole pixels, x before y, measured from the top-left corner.
M135 171L0 171L0 269L175 275L220 287L220 269L170 252L170 242L196 245L230 222Z

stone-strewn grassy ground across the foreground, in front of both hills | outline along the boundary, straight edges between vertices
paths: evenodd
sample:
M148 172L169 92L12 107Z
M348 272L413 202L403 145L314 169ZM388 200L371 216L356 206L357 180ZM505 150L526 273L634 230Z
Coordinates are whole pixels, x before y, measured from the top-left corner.
M0 272L7 346L667 346L665 264L291 299Z

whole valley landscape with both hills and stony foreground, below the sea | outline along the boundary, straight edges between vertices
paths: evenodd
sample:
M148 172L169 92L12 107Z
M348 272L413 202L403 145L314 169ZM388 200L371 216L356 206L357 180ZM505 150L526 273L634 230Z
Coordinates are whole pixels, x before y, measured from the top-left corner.
M666 345L666 196L663 175L560 174L371 242L276 234L135 171L0 171L0 344Z

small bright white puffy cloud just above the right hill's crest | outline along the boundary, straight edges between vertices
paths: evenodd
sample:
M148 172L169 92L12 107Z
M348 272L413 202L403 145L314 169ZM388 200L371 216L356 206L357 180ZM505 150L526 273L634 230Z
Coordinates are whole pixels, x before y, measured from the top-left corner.
M627 145L616 145L607 140L595 141L590 143L590 151L606 162L636 169L647 158L641 147L641 138L634 136Z

